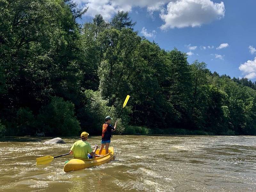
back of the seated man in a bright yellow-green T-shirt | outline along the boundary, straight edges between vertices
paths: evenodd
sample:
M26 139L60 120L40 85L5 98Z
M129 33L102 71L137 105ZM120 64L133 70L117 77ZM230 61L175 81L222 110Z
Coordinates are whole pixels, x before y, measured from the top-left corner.
M74 151L74 158L81 159L88 159L88 153L92 153L90 143L82 140L76 141L70 150Z

